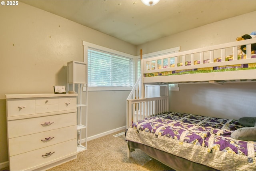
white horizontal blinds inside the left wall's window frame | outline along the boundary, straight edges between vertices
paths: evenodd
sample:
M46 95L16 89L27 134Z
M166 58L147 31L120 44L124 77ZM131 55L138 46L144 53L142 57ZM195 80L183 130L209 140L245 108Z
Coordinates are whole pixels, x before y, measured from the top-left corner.
M133 59L88 48L88 86L132 87Z

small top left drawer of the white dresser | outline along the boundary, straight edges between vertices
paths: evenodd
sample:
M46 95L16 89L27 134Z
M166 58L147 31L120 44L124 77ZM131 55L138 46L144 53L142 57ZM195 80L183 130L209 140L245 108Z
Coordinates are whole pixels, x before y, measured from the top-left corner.
M29 115L36 112L36 100L33 98L27 99L8 99L7 112L8 117L18 115Z

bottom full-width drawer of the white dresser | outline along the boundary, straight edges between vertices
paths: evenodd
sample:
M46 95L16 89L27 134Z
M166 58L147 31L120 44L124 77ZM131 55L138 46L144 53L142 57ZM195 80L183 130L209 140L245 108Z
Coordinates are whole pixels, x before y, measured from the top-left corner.
M46 153L51 153L47 156ZM10 169L11 170L26 170L34 166L41 165L42 163L47 163L52 160L64 157L66 155L76 153L76 139L65 141L63 143L58 143L56 145L51 145L34 151L29 151L27 153L22 153L19 155L14 155L10 157Z

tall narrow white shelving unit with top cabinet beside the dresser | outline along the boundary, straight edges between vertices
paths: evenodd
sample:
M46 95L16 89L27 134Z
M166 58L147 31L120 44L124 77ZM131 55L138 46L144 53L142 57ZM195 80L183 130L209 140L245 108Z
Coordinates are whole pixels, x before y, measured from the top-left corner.
M68 62L68 91L78 93L77 152L87 149L87 89L87 64L78 61ZM83 142L82 138L84 138ZM82 145L84 142L85 145Z

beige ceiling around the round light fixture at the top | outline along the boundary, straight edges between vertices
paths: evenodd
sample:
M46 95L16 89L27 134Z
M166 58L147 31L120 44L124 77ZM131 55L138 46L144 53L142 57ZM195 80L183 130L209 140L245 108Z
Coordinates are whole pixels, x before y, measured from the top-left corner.
M20 0L130 44L256 11L255 0ZM241 21L242 23L242 21Z

